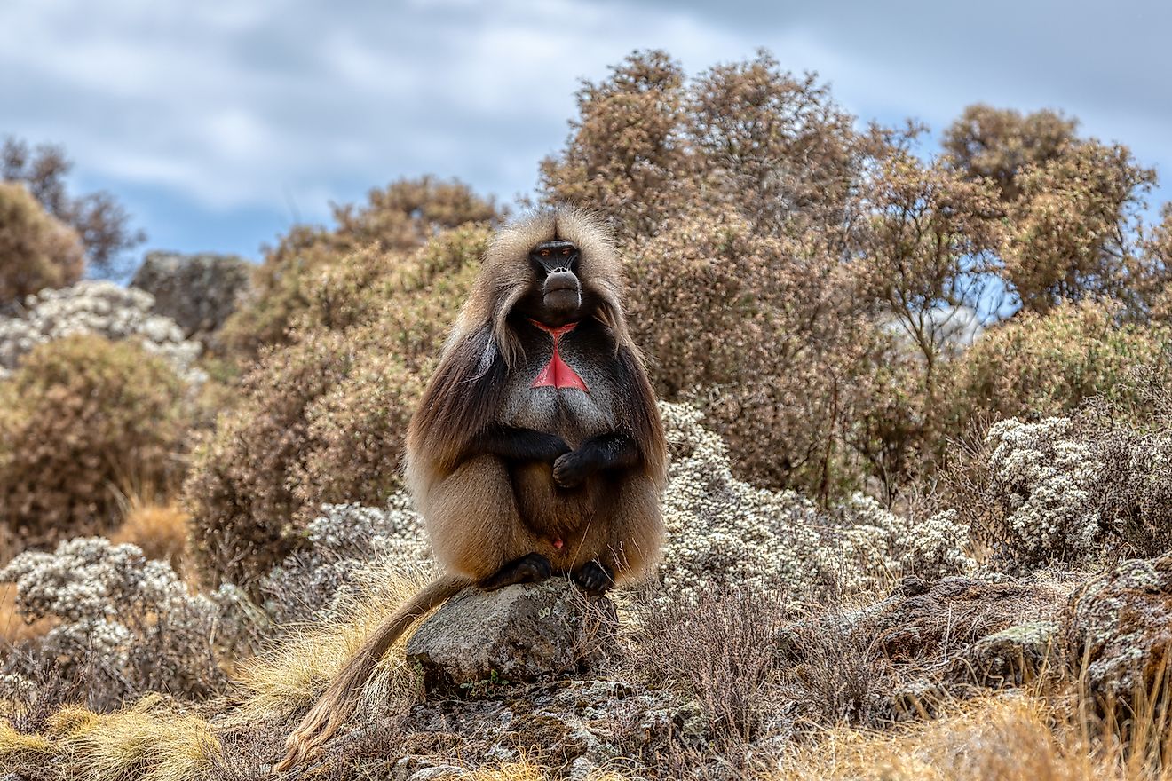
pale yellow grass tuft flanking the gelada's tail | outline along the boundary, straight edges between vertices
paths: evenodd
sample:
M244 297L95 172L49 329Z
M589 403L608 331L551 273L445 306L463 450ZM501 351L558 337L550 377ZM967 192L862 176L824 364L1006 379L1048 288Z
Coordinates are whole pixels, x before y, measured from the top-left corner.
M415 596L432 576L429 571L364 570L362 596L348 598L338 610L346 616L345 622L299 626L279 645L244 665L239 683L246 692L245 701L232 721L284 717L313 703L375 626ZM418 698L417 676L403 655L410 633L408 631L379 665L363 692L360 713L374 713L388 705L406 710Z

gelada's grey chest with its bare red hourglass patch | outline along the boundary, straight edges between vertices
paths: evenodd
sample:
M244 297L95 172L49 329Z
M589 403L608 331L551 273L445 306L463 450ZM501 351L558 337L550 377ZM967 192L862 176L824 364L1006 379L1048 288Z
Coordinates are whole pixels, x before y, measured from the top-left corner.
M615 427L615 364L577 329L538 333L509 378L504 423L556 433L571 446ZM601 355L600 355L601 354Z

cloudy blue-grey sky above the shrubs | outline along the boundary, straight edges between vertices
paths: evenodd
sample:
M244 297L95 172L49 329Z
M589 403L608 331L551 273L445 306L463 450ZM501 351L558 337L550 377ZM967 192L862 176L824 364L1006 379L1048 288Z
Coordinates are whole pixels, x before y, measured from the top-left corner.
M861 121L1059 109L1172 183L1168 40L1166 0L0 0L0 136L62 144L136 254L259 259L400 177L532 192L582 80L648 48L691 74L766 48Z

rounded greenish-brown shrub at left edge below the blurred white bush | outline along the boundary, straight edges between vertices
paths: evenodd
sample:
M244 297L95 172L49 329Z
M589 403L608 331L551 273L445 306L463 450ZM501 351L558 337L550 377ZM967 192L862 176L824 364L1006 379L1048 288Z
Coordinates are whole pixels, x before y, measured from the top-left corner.
M130 342L67 336L0 382L0 515L28 541L101 529L117 488L179 474L184 386Z

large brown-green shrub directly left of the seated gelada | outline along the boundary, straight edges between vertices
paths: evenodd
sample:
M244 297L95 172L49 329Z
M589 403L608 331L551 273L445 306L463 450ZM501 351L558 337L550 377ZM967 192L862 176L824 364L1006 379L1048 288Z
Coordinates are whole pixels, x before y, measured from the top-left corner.
M386 275L386 255L361 251L323 276L293 343L261 358L196 451L185 495L213 582L254 589L322 503L387 501L421 377L488 235L441 234Z

